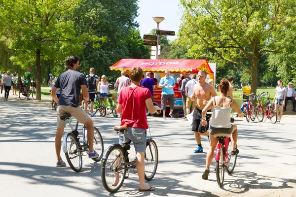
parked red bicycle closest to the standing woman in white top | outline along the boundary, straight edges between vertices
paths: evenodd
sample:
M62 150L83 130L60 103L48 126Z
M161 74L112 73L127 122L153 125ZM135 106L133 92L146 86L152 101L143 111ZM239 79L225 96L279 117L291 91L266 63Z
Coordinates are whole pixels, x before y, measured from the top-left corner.
M266 116L266 119L268 118L270 120L271 123L275 124L277 121L277 112L275 110L275 107L273 105L273 103L270 103L270 99L269 99L269 94L268 92L262 92L260 93L261 95L259 96L255 96L255 98L258 98L259 104L256 106L255 108L255 112L256 112L256 117L259 120L259 122L262 122L264 119L264 115ZM261 104L261 97L265 97L267 96L267 100L265 102L264 105ZM264 110L265 108L265 110ZM265 119L265 121L266 121ZM264 122L265 122L264 121Z

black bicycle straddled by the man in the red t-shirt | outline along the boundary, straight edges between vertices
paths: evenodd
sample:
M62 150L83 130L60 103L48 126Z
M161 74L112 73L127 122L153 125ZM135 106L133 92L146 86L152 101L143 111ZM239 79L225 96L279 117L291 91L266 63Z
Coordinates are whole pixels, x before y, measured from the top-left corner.
M129 161L129 153L131 141L125 141L124 132L127 131L127 126L115 126L114 130L116 133L122 133L123 143L112 144L109 146L104 154L101 164L101 177L104 188L110 192L117 192L123 184L126 177L126 172L130 168L133 169L134 173L137 173L136 159L132 162ZM158 165L158 148L152 137L147 138L146 150L145 150L145 179L147 181L152 180L156 173ZM113 184L115 181L115 173L119 175L118 184Z

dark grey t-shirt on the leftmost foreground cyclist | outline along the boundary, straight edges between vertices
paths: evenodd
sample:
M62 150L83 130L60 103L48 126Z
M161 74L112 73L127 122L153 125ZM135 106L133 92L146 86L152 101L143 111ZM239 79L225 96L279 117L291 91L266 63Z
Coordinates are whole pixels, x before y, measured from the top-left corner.
M67 70L58 77L54 87L61 89L59 105L79 106L80 86L86 85L84 74L76 70Z

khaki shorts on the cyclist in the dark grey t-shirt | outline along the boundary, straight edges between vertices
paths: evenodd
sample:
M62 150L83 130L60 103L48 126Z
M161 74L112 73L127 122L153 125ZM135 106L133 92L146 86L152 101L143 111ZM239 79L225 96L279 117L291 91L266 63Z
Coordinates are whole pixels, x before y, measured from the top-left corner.
M66 126L66 121L62 121L60 116L64 114L71 114L79 123L86 123L90 117L87 113L79 107L71 107L66 105L59 105L57 108L57 128L62 129Z

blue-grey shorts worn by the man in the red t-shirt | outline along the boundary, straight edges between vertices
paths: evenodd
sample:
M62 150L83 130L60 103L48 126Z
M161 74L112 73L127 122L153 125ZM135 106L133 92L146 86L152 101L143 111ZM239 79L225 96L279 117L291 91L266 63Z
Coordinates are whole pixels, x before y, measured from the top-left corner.
M132 141L137 153L143 153L146 150L146 133L144 129L129 127L124 132L125 141ZM122 133L119 133L119 144L123 143Z

